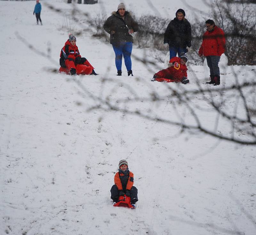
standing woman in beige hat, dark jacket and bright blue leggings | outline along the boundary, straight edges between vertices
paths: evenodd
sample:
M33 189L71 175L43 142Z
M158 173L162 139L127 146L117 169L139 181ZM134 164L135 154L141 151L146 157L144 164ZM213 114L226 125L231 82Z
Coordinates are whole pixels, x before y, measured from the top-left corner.
M104 30L110 34L110 43L116 54L117 75L122 75L122 58L128 72L132 75L132 33L138 31L138 24L132 19L129 12L125 11L125 5L120 3L117 12L112 12L103 25Z

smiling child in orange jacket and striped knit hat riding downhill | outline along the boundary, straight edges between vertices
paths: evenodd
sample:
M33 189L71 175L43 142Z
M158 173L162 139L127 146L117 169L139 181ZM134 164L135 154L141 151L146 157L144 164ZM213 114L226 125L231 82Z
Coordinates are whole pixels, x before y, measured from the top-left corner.
M125 194L131 198L131 204L135 207L135 203L138 201L138 189L133 186L133 173L129 171L128 163L125 160L119 161L118 166L118 172L114 177L115 184L110 190L113 204L116 204L119 197Z

